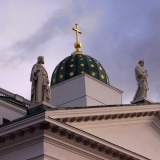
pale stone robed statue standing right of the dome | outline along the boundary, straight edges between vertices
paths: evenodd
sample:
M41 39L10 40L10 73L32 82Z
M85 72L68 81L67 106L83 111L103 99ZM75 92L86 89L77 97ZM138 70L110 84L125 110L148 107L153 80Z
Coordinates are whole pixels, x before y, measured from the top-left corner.
M148 73L147 70L144 69L144 60L140 60L138 64L139 65L135 68L138 89L133 101L139 100L141 98L147 98L147 91L149 90L147 82Z

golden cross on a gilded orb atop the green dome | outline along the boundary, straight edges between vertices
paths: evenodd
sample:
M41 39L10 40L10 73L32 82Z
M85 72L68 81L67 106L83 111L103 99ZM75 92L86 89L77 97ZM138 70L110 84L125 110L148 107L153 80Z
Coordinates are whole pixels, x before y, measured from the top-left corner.
M72 28L72 30L76 31L76 42L74 44L74 47L76 48L76 51L72 53L72 55L74 54L84 54L83 52L80 51L80 48L82 47L81 42L79 42L79 35L78 34L82 34L82 32L80 30L78 30L78 24L75 24L75 28Z

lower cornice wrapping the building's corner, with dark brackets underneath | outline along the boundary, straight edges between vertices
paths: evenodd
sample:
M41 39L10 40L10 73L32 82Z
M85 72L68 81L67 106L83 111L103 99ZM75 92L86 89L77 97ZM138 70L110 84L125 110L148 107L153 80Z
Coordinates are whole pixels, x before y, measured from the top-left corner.
M104 157L112 157L115 160L147 159L80 129L58 122L52 117L45 115L44 112L0 128L0 144L4 144L6 140L13 143L13 140L17 137L32 134L35 132L35 129L49 131L59 138L66 139L69 144L71 142L75 143L80 145L81 148L88 148L90 152L99 153Z

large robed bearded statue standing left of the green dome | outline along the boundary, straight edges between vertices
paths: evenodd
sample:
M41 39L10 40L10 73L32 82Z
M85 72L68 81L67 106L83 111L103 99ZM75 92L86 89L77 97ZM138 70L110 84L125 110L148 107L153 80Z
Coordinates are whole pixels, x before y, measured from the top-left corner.
M37 63L33 66L31 71L30 81L32 82L31 88L31 103L36 104L40 102L50 101L50 87L48 80L48 73L43 67L44 57L39 56Z

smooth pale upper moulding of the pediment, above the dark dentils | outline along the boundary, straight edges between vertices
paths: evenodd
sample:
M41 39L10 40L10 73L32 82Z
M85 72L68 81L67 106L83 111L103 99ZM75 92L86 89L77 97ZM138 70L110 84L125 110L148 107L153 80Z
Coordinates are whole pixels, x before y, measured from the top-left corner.
M153 105L117 105L117 106L99 106L96 108L78 108L46 111L46 115L52 118L71 118L71 117L87 117L101 115L120 115L130 113L158 112L160 104Z

